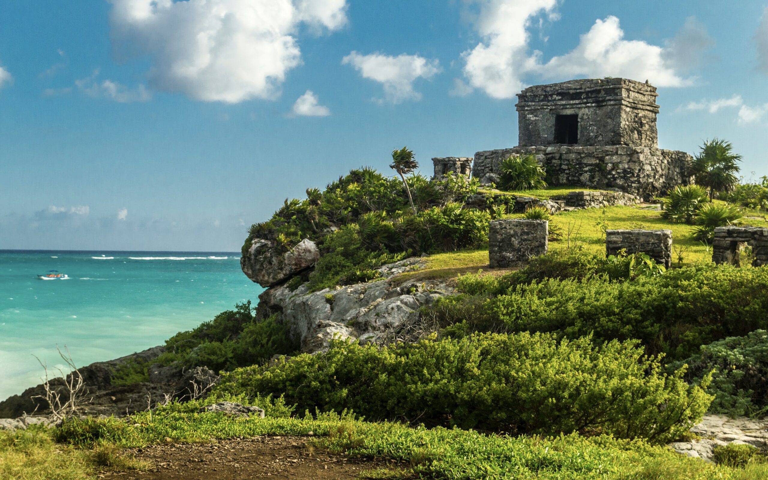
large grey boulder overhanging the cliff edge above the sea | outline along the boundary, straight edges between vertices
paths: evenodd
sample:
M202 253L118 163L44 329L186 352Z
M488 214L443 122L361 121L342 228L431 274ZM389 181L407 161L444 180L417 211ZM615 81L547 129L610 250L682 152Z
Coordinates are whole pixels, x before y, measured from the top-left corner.
M313 266L319 259L320 250L308 238L284 253L280 253L270 240L254 238L248 253L240 258L240 268L259 285L275 286Z

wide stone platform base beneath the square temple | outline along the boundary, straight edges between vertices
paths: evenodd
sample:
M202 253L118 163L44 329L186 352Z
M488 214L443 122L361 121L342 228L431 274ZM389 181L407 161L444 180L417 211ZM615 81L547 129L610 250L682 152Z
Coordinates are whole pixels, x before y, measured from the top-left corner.
M677 185L691 183L689 154L655 147L515 147L478 151L472 176L483 179L499 174L499 164L510 155L534 154L547 171L551 186L579 185L616 188L648 198Z

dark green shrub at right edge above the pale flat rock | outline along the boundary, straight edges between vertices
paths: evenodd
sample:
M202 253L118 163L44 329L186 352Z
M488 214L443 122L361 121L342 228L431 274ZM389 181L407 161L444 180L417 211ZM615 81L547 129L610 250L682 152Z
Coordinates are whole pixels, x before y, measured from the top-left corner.
M686 363L693 380L714 370L707 392L714 396L710 410L727 415L763 415L768 411L768 332L755 330L701 347Z

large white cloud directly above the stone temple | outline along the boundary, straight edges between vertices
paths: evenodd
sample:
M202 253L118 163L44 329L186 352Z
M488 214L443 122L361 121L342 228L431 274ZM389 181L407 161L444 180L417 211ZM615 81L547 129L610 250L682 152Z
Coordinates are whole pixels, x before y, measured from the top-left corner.
M475 28L482 41L462 54L468 86L492 98L512 98L529 77L548 80L606 76L649 80L659 87L690 84L681 72L692 68L712 45L703 25L688 18L664 47L626 40L619 19L598 19L578 45L565 55L543 61L540 51L529 51L531 28L544 18L558 20L557 0L472 0L479 5ZM457 87L461 85L457 84ZM465 94L466 88L454 88Z

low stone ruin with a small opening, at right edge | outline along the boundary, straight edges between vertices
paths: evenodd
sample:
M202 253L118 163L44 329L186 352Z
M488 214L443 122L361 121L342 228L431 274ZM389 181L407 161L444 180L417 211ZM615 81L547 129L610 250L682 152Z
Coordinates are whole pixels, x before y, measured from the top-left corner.
M752 248L752 265L768 265L768 228L717 227L712 243L712 261L740 266L744 247Z

